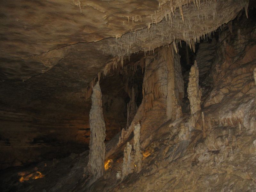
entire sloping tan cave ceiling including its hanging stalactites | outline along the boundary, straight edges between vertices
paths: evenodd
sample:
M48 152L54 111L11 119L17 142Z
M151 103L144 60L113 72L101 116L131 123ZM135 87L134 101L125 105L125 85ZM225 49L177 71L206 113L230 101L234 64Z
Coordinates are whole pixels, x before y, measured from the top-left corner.
M58 87L78 91L106 64L135 52L152 52L175 39L193 44L234 19L241 9L247 11L248 4L247 0L0 1L0 80L19 82L21 87L22 82L33 81L35 90L41 86L39 95L53 94Z

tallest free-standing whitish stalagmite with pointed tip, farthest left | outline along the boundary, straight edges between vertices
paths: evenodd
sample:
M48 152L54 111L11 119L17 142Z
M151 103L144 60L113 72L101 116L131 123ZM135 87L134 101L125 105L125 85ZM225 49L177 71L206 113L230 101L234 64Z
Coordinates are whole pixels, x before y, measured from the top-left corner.
M92 108L90 110L90 154L88 170L95 179L100 178L104 173L104 160L106 146L106 128L102 109L102 94L99 81L92 89Z

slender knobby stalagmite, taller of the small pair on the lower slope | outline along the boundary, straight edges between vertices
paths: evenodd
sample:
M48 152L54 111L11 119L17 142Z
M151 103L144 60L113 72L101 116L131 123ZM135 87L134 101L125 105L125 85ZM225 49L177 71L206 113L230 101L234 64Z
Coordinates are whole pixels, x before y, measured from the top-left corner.
M137 172L140 172L142 169L142 158L143 158L143 155L140 150L140 123L134 126L133 133L134 133L134 137L133 137L134 166L135 166L135 170Z

